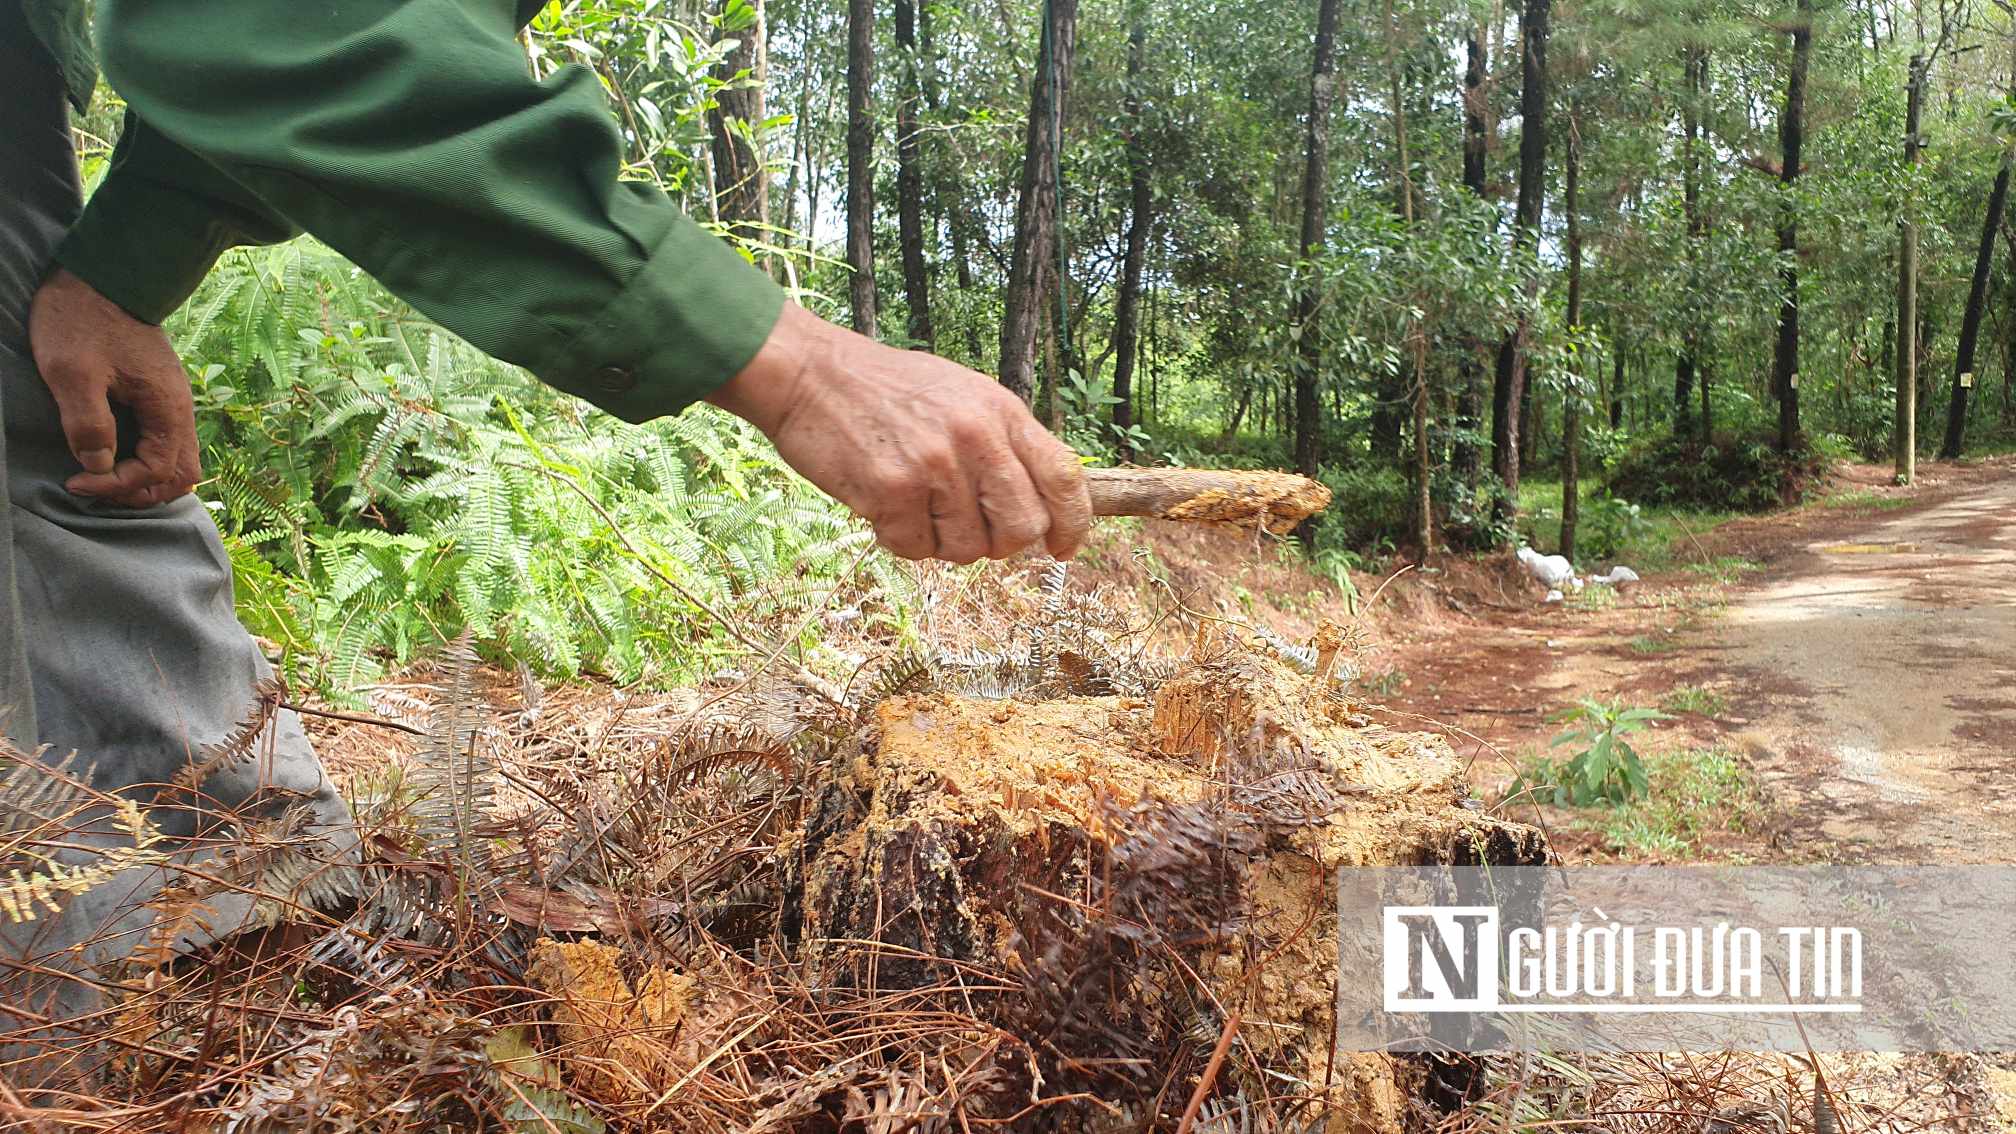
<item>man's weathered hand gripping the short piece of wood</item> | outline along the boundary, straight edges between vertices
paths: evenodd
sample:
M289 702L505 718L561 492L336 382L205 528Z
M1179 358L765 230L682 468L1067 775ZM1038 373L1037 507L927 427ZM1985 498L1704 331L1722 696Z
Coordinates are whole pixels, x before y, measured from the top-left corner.
M710 402L754 422L905 559L1006 559L1036 541L1068 559L1093 523L1077 454L1020 398L796 305Z

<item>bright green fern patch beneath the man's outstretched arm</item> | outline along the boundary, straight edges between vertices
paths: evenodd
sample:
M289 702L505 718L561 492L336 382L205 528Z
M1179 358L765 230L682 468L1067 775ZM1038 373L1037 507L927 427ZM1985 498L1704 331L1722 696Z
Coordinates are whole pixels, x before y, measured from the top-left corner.
M554 678L696 680L744 652L708 611L788 630L833 587L901 628L903 573L750 426L589 412L321 246L228 256L171 329L242 615L290 680L343 694L464 630Z

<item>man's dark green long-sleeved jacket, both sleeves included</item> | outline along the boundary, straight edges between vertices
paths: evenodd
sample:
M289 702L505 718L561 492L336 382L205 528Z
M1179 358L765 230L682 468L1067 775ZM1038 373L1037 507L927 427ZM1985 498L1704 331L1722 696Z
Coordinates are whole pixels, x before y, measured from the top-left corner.
M536 0L0 0L87 103L129 105L56 258L159 323L234 244L302 230L478 349L641 422L734 377L782 291L653 186L583 67L534 81Z

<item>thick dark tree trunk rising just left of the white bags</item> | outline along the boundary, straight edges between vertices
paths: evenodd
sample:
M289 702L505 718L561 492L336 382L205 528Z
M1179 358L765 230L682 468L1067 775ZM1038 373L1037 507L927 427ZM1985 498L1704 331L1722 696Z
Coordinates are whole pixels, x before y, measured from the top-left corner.
M1536 256L1540 218L1546 210L1546 34L1550 0L1526 0L1520 12L1520 139L1518 139L1518 208L1512 242L1522 256ZM1534 274L1526 293L1540 291L1538 264L1526 264ZM1526 337L1530 327L1520 315L1512 337L1498 351L1498 373L1492 387L1492 460L1504 480L1504 513L1518 515L1520 470L1520 404L1526 395Z

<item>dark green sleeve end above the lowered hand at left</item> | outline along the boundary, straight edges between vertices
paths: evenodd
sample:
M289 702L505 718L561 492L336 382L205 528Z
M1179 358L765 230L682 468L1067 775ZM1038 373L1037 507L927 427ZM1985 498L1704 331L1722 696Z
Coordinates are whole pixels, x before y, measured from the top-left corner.
M127 113L111 167L56 246L56 262L135 319L159 323L226 248L298 234L216 165Z

